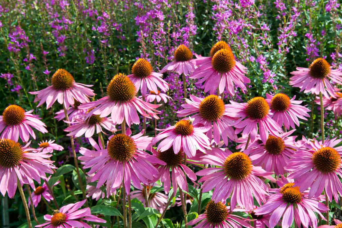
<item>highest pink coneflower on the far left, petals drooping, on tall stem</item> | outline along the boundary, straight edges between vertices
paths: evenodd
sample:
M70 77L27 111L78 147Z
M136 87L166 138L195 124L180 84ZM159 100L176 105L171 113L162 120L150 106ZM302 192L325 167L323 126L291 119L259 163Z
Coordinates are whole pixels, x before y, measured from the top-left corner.
M92 85L76 83L74 77L65 69L58 69L51 78L52 85L45 89L30 94L37 95L35 102L39 101L38 106L46 102L49 109L57 100L58 103L69 108L70 105L78 100L80 103L89 102L89 97L95 96L93 90L87 88ZM37 106L37 107L38 107Z

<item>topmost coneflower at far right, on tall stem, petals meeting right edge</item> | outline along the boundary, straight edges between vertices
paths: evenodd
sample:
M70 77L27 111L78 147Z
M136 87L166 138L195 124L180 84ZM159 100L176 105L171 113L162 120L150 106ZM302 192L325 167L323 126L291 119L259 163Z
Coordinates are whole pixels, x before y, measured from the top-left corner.
M312 62L309 68L297 67L297 71L292 71L290 85L299 87L304 93L319 94L322 92L326 97L334 96L335 89L333 81L342 84L342 71L332 69L330 64L324 58L317 58Z

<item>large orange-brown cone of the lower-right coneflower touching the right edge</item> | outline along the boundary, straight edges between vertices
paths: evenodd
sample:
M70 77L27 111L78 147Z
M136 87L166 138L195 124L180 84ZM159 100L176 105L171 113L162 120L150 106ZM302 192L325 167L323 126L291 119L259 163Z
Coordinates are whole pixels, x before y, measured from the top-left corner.
M331 173L336 171L341 166L341 156L331 147L323 147L317 150L312 160L316 168L322 173Z

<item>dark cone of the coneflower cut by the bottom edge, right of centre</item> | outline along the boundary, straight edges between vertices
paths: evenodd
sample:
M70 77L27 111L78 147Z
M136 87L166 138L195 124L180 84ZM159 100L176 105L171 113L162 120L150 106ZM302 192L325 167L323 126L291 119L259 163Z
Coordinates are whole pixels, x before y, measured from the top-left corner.
M211 224L222 223L227 218L228 210L222 202L209 201L205 214Z

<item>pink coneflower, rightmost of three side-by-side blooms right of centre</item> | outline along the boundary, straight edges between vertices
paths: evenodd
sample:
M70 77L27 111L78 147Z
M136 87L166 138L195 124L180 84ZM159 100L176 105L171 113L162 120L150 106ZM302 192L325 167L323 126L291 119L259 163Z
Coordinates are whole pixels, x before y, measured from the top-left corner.
M299 119L307 120L305 117L310 117L308 112L310 109L300 105L302 100L295 100L296 96L288 97L286 94L278 93L274 96L266 94L266 101L271 107L274 119L280 126L284 124L286 129L299 126Z

